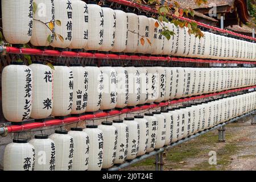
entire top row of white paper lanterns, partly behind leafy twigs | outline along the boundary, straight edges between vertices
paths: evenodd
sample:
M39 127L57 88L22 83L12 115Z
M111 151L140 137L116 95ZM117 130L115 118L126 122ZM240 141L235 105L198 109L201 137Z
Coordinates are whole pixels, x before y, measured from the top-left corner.
M37 5L32 12L32 2ZM34 17L34 20L33 20ZM40 21L39 21L40 20ZM52 31L46 22L51 24ZM199 39L188 28L164 22L175 33L167 40L155 27L156 19L86 4L80 0L2 1L3 34L11 44L97 51L201 57L207 59L256 60L256 44L203 32ZM44 23L42 23L44 22ZM141 42L142 36L144 40Z

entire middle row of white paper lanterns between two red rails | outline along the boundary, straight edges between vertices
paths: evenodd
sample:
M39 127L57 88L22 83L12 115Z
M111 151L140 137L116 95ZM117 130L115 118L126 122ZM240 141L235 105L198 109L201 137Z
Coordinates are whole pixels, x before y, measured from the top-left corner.
M134 107L256 84L256 68L8 65L2 108L8 121Z

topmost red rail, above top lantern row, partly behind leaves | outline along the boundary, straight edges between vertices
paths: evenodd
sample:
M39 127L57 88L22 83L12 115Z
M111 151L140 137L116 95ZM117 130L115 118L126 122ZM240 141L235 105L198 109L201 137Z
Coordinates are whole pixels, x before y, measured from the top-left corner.
M158 11L156 9L152 9L151 7L148 7L148 6L145 6L145 5L139 5L138 3L131 2L131 1L126 1L126 0L108 0L108 1L119 3L119 4L125 5L125 6L137 7L139 9L144 10L144 11L150 11L152 13L158 13ZM241 37L241 38L245 38L245 39L250 39L250 40L256 41L256 38L253 38L253 37L250 37L250 36L246 36L246 35L242 35L242 34L237 34L235 32L232 32L232 31L229 31L229 30L224 30L224 29L221 29L221 28L218 28L218 27L213 27L213 26L210 26L208 24L197 22L197 21L189 19L189 18L180 17L180 16L176 16L176 15L172 15L172 16L174 16L176 19L185 20L187 22L195 22L195 23L197 23L201 27L209 28L209 29L212 29L212 30L224 33L224 34L230 34L230 35L238 36L238 37Z

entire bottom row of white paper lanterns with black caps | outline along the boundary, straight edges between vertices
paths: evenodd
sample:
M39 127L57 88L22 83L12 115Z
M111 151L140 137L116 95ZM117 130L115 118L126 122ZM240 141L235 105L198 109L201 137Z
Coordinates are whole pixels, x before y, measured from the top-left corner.
M14 140L4 155L5 170L100 170L135 159L256 108L256 92L155 111L134 118L88 125L84 131ZM107 136L107 137L106 137ZM27 160L30 159L28 162ZM27 164L30 164L28 166Z

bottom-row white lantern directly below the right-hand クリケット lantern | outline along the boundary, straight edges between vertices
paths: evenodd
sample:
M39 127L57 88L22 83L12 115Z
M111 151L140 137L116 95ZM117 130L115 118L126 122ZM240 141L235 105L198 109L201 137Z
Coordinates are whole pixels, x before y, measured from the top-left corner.
M159 111L152 112L154 117L158 119L158 133L156 134L155 148L159 149L166 143L166 118Z

